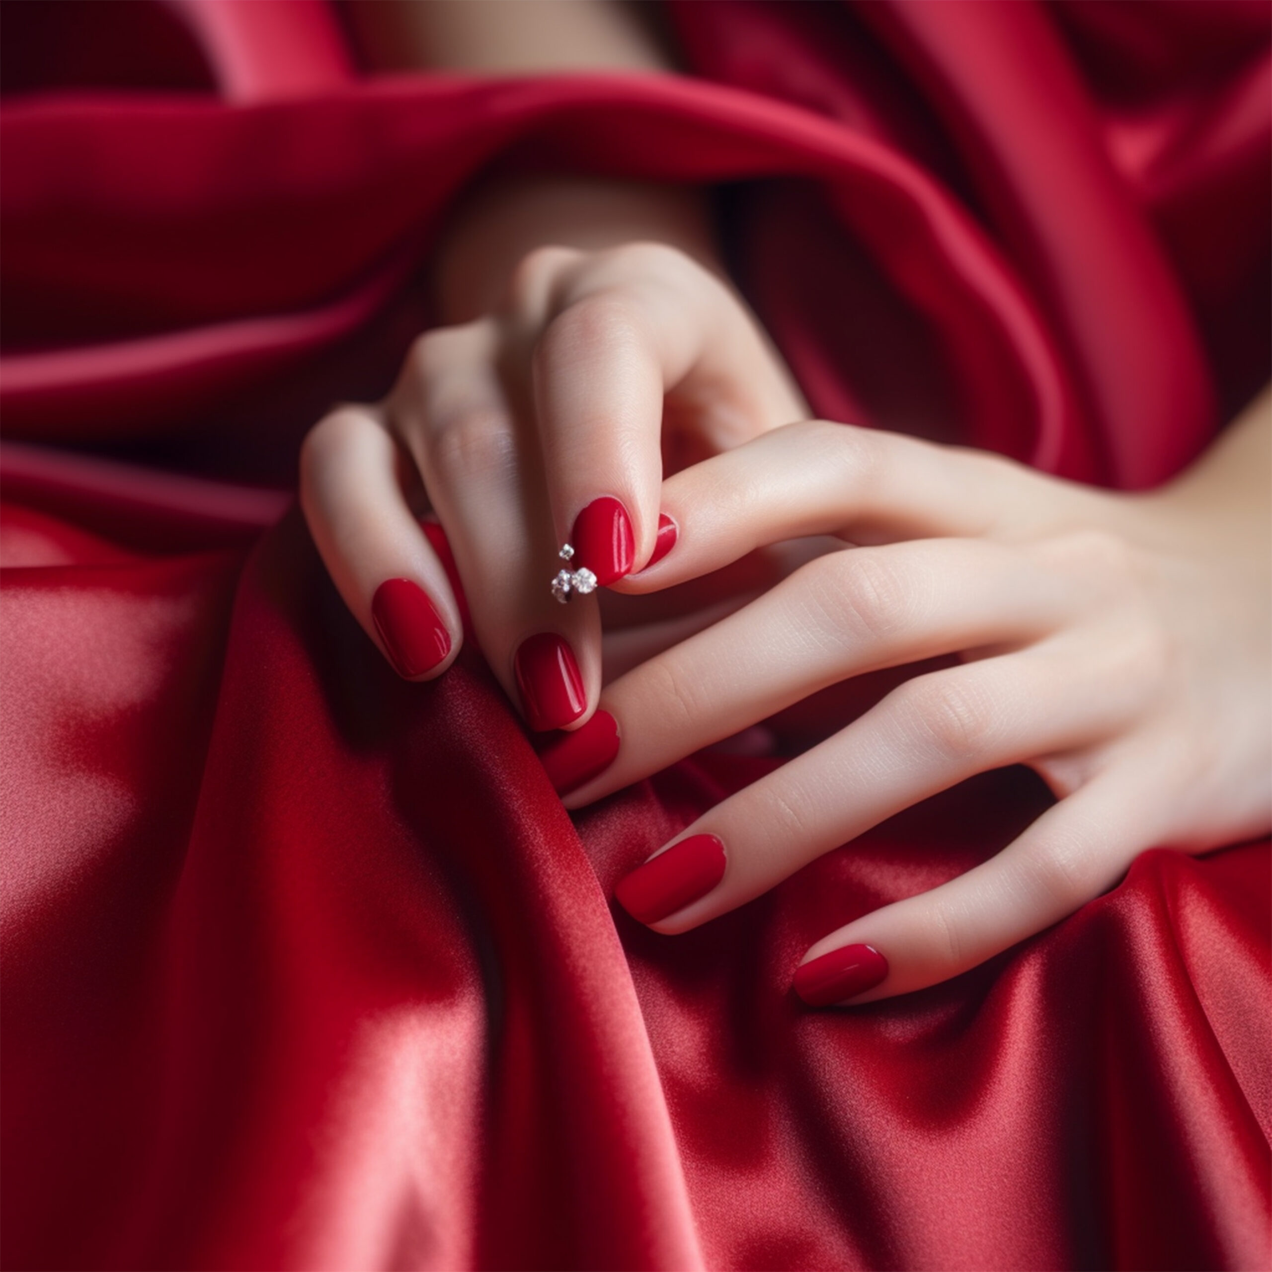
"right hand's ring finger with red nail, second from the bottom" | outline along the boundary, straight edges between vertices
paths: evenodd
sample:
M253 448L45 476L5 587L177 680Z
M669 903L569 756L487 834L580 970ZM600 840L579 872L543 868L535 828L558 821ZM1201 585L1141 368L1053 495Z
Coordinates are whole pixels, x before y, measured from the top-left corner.
M619 881L619 902L660 932L686 931L974 773L1108 735L1133 693L1075 692L1072 645L1062 637L907 682L711 809Z

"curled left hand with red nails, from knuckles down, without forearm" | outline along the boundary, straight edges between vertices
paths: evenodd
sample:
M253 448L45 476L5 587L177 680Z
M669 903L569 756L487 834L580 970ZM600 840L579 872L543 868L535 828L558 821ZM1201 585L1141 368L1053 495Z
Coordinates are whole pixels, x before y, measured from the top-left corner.
M595 196L594 196L595 197ZM663 455L700 458L805 415L743 304L655 243L539 248L502 303L415 343L392 393L305 439L300 501L341 595L408 679L440 675L463 628L417 514L446 530L472 628L532 729L576 728L600 689L594 598L667 551Z

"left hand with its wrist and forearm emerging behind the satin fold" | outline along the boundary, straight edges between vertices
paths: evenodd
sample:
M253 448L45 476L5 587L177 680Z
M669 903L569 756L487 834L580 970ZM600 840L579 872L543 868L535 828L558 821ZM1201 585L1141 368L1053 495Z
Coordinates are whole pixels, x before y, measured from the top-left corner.
M622 0L377 0L349 18L371 66L673 69L656 18ZM495 674L532 728L574 728L597 701L599 622L594 599L551 599L557 550L569 539L572 567L621 589L674 537L659 518L663 454L677 467L808 410L712 272L701 191L492 176L434 263L444 329L418 341L384 402L310 432L301 504L350 609L411 679L441 674L463 635L415 516L435 511Z

